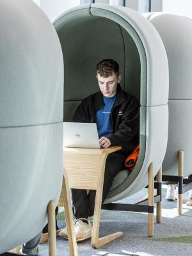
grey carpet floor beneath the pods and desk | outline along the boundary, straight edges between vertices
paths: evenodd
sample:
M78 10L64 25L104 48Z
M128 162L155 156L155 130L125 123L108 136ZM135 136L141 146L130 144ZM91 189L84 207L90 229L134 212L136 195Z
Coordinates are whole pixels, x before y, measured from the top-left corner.
M164 190L165 193L165 190ZM132 204L146 194L146 189L120 202ZM184 203L188 194L184 194ZM156 223L154 217L154 238L192 236L191 225L192 207L184 205L182 216L177 215L177 200L168 202L163 195L162 223ZM93 249L90 239L77 244L79 256L115 256L115 255L140 255L140 256L190 256L192 243L171 243L154 241L148 237L148 216L138 212L102 211L100 221L100 236L122 231L124 236L115 241ZM64 221L59 221L59 226L64 227ZM40 245L40 255L47 256L47 243ZM107 254L108 253L108 254ZM120 254L122 253L122 254ZM61 237L57 238L57 255L68 256L68 243Z

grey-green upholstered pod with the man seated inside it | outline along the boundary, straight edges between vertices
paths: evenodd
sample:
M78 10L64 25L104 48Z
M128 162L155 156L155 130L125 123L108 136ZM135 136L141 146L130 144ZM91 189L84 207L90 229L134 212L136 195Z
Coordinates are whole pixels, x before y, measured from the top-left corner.
M148 184L148 166L159 169L168 136L168 61L156 29L129 8L81 5L53 21L63 50L64 120L70 121L81 100L99 90L95 66L104 58L120 64L122 88L140 108L140 156L131 175L122 171L106 202L136 193ZM163 122L164 125L159 125Z

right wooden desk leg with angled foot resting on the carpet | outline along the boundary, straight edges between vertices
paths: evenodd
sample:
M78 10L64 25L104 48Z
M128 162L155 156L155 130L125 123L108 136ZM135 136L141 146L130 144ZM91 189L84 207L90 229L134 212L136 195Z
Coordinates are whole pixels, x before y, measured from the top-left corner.
M100 161L102 170L102 177L100 177L100 182L98 189L95 195L95 209L94 209L94 218L93 218L93 230L92 230L92 247L99 248L100 246L109 243L110 241L115 240L117 237L123 235L123 232L116 232L114 234L110 234L109 236L104 236L99 238L99 226L100 226L100 211L101 211L101 204L102 204L102 188L104 182L104 169L106 163L106 157L101 159Z

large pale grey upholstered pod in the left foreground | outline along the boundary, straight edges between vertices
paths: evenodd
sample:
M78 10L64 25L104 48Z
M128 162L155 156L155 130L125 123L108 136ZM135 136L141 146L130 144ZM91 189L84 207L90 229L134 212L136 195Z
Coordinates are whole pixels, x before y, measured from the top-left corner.
M0 253L47 222L62 182L63 58L31 0L0 1Z

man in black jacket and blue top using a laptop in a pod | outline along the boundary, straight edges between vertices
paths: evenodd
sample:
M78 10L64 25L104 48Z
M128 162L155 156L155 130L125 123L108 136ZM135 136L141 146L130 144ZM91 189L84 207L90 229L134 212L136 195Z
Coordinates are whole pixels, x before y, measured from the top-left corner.
M122 150L109 154L106 159L102 203L108 195L114 177L125 168L125 157L139 144L140 104L120 87L118 63L102 60L97 64L97 80L100 91L84 99L74 114L74 122L96 122L100 147L121 146ZM72 189L72 207L77 241L92 236L95 191L87 194L83 189ZM67 238L67 228L60 232Z

